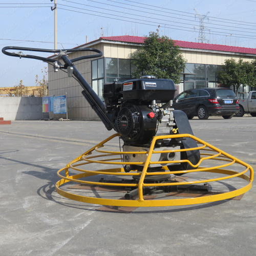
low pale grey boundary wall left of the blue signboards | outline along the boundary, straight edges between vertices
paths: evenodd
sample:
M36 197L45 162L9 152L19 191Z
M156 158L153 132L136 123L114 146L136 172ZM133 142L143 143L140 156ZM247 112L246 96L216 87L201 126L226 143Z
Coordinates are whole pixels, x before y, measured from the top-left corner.
M0 117L4 120L39 120L41 97L0 97Z

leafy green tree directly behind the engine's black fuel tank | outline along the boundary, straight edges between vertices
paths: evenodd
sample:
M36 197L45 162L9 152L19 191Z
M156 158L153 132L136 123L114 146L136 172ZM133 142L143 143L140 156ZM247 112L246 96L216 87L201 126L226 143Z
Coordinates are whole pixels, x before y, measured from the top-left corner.
M156 32L150 32L143 46L131 58L137 68L134 77L152 75L172 79L175 83L180 83L180 73L186 62L175 42L167 36L160 37Z

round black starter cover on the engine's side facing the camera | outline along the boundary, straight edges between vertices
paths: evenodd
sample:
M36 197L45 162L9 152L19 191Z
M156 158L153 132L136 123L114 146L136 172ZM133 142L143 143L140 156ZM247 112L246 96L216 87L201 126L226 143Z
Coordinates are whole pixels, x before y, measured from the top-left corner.
M136 102L124 103L121 106L117 127L126 144L144 145L152 140L157 131L158 120L156 116L148 115L151 112L152 109Z

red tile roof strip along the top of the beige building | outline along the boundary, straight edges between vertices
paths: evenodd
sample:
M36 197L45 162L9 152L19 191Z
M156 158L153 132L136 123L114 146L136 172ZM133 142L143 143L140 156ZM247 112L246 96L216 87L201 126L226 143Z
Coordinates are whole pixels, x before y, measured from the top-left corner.
M130 36L130 35L100 37L100 39L102 39L102 40L119 41L119 42L131 42L131 43L134 43L134 44L143 44L145 38L146 37ZM187 48L187 49L199 49L199 50L220 51L220 52L236 52L236 53L256 54L256 49L255 48L203 44L202 42L187 42L187 41L179 41L179 40L174 40L174 41L176 42L176 45L178 45L179 47Z

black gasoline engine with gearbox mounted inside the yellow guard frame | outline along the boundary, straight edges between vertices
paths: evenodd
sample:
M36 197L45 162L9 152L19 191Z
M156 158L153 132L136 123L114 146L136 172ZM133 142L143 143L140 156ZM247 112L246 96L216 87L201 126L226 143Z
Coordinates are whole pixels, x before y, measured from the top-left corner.
M171 108L175 91L172 80L156 79L154 76L143 76L123 83L114 81L104 84L106 115L111 117L114 129L121 134L124 152L148 151L154 136L193 134L186 115ZM189 138L163 139L157 141L155 151L190 147L197 147L197 144ZM146 155L142 154L127 154L124 155L124 162L145 162L145 158ZM196 164L200 154L199 151L181 154L172 152L154 154L153 158L155 158L153 161L188 159ZM147 172L156 172L162 165L151 164ZM185 170L188 165L187 163L170 164L167 167L171 170ZM125 172L142 168L143 165L124 166Z

